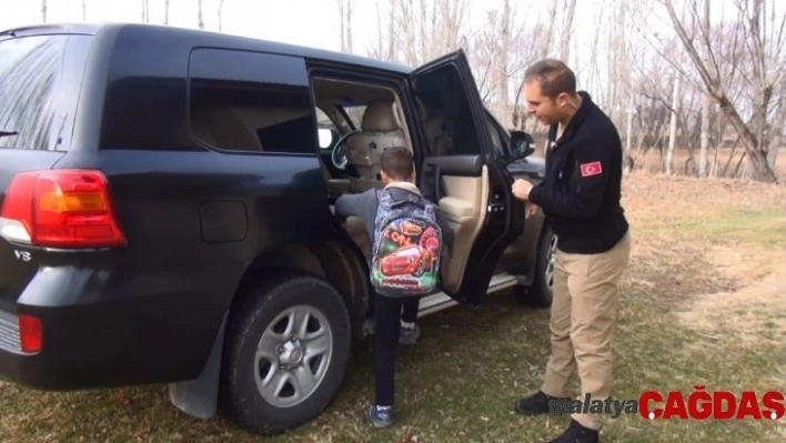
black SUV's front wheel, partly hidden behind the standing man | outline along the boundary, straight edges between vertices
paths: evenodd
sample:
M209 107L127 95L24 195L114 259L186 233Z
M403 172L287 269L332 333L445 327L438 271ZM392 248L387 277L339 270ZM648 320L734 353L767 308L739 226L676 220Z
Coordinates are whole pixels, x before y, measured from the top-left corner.
M544 224L537 242L535 276L528 286L516 285L513 293L516 299L535 306L548 308L554 299L554 266L556 263L556 235Z

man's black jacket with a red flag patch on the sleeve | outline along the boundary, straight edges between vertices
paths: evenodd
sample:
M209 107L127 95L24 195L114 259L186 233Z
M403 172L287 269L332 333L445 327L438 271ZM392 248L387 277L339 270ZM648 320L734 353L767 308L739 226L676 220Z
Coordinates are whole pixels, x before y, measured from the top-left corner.
M628 229L619 203L623 151L619 133L608 117L580 92L583 101L555 140L548 131L546 178L530 192L568 253L606 252Z

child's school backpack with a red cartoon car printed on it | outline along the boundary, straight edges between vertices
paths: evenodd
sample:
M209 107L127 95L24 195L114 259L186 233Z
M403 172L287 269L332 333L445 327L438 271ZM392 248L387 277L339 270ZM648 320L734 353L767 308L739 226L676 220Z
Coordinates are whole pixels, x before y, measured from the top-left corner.
M371 283L389 296L429 294L440 280L442 231L436 211L423 197L407 194L395 200L390 190L376 191Z

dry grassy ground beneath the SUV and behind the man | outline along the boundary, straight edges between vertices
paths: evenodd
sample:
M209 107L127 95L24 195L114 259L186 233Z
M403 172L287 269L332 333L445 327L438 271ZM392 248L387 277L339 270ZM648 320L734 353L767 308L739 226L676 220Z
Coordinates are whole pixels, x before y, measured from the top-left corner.
M634 173L624 203L634 249L615 338L615 397L646 390L779 389L786 368L786 189L729 180ZM538 442L567 417L522 417L511 403L540 386L548 312L490 296L482 310L422 320L397 362L397 415L377 431L364 417L373 391L370 343L354 350L344 385L318 420L260 439L221 419L188 417L164 386L41 393L0 384L2 441ZM609 419L604 441L782 442L769 421Z

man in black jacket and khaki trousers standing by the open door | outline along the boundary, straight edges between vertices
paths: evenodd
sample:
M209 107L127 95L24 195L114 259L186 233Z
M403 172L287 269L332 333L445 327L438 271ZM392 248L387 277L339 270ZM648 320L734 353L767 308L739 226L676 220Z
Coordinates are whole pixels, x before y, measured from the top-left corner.
M535 415L548 413L550 400L571 399L576 370L580 400L611 396L612 333L631 235L619 203L622 142L614 123L586 92L576 92L574 73L558 60L538 61L524 81L527 112L550 127L546 178L535 187L516 180L513 194L528 203L527 215L540 207L557 235L552 354L541 390L514 406ZM571 419L553 442L599 441L601 414Z

